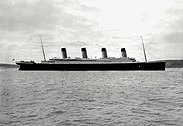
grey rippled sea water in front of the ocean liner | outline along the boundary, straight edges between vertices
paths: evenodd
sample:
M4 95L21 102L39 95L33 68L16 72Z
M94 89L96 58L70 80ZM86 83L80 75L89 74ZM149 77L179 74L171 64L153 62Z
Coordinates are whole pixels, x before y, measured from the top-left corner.
M183 69L0 71L0 126L182 126Z

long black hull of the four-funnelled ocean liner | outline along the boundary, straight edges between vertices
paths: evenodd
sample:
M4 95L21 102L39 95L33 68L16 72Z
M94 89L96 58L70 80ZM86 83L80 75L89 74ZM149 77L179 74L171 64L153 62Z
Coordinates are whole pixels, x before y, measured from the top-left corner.
M54 71L123 71L123 70L165 70L165 62L103 63L103 64L26 64L17 63L19 70Z

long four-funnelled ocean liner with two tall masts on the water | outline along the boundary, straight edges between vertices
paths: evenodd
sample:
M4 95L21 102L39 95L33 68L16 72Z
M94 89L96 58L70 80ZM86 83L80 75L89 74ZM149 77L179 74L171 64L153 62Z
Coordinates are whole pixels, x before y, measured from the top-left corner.
M142 38L142 37L141 37ZM19 70L60 70L60 71L122 71L122 70L165 70L164 61L147 61L144 43L143 52L145 62L137 62L134 58L127 57L126 49L121 48L121 57L108 57L106 48L101 49L102 58L90 59L86 48L81 48L82 58L67 57L66 48L61 48L62 58L46 60L44 47L41 39L41 47L44 60L41 63L34 61L17 61Z

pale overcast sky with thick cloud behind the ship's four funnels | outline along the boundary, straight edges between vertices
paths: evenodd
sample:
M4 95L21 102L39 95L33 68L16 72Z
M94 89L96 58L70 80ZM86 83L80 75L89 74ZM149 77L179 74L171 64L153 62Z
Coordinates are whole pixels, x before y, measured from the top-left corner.
M127 55L143 61L183 59L183 0L0 0L0 62L61 57Z

